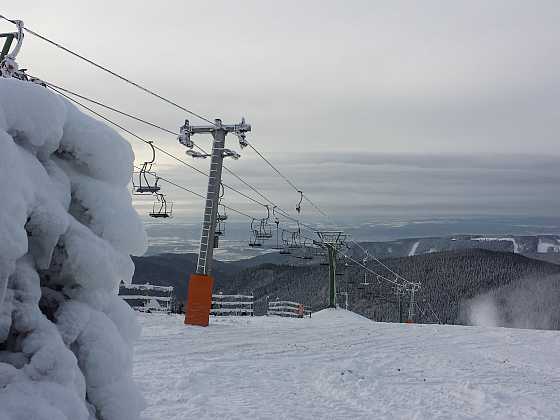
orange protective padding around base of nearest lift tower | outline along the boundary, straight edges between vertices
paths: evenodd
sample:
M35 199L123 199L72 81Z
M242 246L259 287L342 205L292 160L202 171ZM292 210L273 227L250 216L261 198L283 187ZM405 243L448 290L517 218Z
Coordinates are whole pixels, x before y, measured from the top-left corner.
M191 274L189 297L185 311L185 324L207 327L212 306L212 287L214 279L210 276Z

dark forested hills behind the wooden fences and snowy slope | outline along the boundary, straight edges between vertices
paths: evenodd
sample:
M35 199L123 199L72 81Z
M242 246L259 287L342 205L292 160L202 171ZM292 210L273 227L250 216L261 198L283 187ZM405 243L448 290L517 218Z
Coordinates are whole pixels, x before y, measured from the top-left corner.
M419 323L467 324L469 302L477 296L494 293L494 301L499 308L502 305L501 325L517 326L508 321L507 312L512 309L507 309L507 305L511 302L508 303L504 296L515 295L514 290L519 287L529 291L550 288L557 290L554 287L560 287L559 282L552 280L560 278L559 265L509 252L468 249L386 258L382 261L402 277L422 284L415 296L417 304L414 305L414 320ZM194 269L195 262L196 256L192 254L135 258L134 282L175 286L178 299L182 301L182 296L186 298L188 273ZM373 271L388 275L387 270L378 263L369 263L368 266ZM378 281L369 274L365 279L369 284L363 285L364 270L352 265L345 267L343 262L339 264L337 271L337 289L348 292L350 310L376 321L398 322L399 319L407 318L409 294L400 297L399 316L399 298L391 284ZM214 275L215 292L254 293L257 315L266 312L267 298L301 302L313 311L327 306L328 267L319 263L307 266L266 263L243 268L241 264L218 262ZM558 276L555 277L556 275ZM542 286L544 284L547 284L546 288ZM534 294L532 298L526 299L524 310L542 306L539 299L545 296L557 295L558 293ZM554 298L549 298L547 307L553 306L552 302ZM339 305L344 304L345 297L339 296ZM521 310L521 307L517 308L516 310ZM549 316L547 313L542 318L547 321L541 322L540 328L558 326L554 319L556 315ZM528 326L527 323L525 325Z

